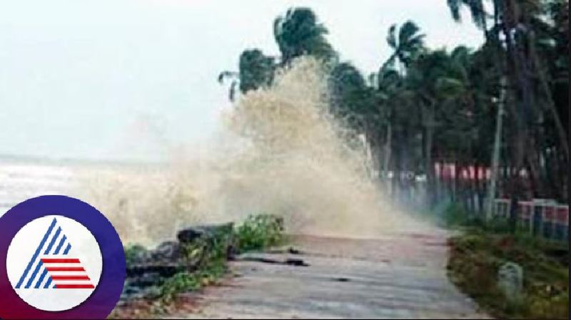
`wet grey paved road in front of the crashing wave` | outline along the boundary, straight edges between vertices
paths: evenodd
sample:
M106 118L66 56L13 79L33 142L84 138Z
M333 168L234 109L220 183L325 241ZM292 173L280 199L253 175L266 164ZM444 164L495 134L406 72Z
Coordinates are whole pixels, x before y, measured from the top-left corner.
M447 234L392 234L380 239L296 237L308 267L238 261L236 277L186 294L187 318L486 318L446 277ZM184 303L183 303L184 304Z

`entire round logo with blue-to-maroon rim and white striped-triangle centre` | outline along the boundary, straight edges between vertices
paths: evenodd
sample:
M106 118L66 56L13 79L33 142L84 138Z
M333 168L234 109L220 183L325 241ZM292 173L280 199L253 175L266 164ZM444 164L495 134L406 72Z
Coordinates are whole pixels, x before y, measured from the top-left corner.
M81 200L44 196L0 217L0 318L105 319L125 280L123 245Z

